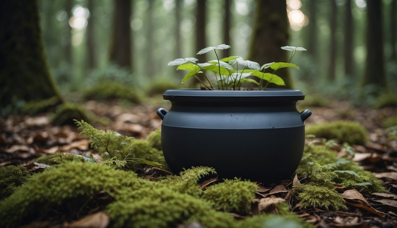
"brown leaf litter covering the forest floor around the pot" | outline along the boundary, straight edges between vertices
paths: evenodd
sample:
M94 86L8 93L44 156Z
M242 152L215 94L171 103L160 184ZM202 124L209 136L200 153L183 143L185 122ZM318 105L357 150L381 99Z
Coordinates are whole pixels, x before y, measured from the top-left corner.
M159 105L137 105L123 107L117 103L88 101L84 103L98 116L110 119L106 127L120 134L145 138L150 132L161 126L156 114ZM164 106L165 105L165 106ZM163 103L164 108L170 108ZM306 107L305 107L306 108ZM301 108L302 110L304 108ZM372 109L353 107L348 102L337 102L329 107L312 107L312 116L305 124L310 126L321 122L336 120L358 121L368 131L368 142L364 146L353 145L354 161L365 170L372 171L384 181L388 193L365 194L350 202L349 210L323 211L317 208L294 211L300 217L319 227L397 227L397 140L388 140L382 120L397 113L397 108ZM51 114L37 116L10 116L0 120L0 167L5 165L24 165L31 172L40 172L45 167L32 160L56 152L67 152L89 156L97 154L89 146L89 140L79 135L73 125L54 126L50 124ZM293 180L282 182L287 186ZM279 185L278 185L279 186ZM276 193L274 186L262 186L270 190L268 195L286 197L288 191ZM263 193L263 192L262 192ZM258 197L260 197L258 195Z

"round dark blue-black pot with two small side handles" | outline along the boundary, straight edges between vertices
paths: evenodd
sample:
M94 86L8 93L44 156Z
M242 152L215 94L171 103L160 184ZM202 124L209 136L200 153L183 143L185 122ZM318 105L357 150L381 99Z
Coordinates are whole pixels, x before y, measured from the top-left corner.
M299 90L203 91L170 89L170 111L159 108L166 161L177 174L191 166L214 167L220 178L279 182L291 177L304 148Z

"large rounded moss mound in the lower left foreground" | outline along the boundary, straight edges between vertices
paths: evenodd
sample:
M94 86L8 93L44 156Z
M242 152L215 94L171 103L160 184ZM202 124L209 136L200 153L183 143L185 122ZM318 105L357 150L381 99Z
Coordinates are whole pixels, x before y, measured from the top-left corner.
M0 202L0 220L4 227L52 216L51 211L67 208L87 210L85 203L98 191L114 195L121 188L138 189L145 181L132 172L113 169L100 163L71 161L46 168L33 175L11 196ZM40 205L40 207L37 207Z

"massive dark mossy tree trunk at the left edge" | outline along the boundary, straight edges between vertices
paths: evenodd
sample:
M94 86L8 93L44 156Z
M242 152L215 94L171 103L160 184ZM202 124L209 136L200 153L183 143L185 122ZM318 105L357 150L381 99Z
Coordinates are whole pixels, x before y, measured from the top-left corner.
M0 7L0 106L15 101L62 101L48 69L37 0L4 1Z

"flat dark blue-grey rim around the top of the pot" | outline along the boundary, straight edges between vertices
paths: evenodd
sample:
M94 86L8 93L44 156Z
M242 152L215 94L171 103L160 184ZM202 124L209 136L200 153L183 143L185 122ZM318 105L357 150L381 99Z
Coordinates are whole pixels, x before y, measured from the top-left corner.
M201 90L168 89L164 100L171 102L293 102L304 100L304 94L297 89L266 90Z

